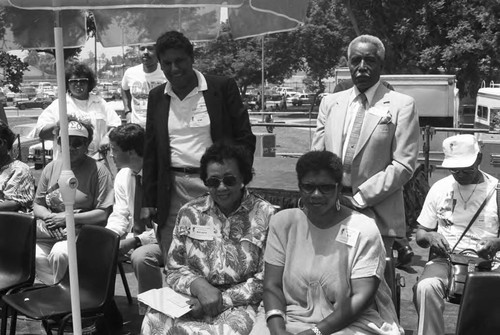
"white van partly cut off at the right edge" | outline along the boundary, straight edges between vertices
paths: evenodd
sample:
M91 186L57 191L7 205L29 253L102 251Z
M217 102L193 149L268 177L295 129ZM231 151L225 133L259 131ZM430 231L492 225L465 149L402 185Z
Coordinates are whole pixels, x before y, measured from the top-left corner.
M484 87L477 92L474 127L500 131L499 87Z

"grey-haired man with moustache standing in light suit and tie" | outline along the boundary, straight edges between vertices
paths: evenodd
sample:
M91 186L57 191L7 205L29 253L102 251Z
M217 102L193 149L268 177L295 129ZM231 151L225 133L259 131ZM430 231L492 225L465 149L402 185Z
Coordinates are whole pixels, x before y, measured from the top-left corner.
M403 186L417 162L419 125L414 99L381 85L384 57L377 37L349 44L354 87L323 98L312 149L342 157L346 204L375 217L391 251L405 236Z

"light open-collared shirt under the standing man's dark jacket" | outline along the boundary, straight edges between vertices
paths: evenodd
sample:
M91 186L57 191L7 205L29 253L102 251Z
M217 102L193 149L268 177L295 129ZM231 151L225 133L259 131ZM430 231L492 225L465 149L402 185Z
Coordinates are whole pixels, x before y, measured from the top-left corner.
M199 167L201 156L213 143L210 117L203 97L203 91L208 89L207 81L201 72L193 71L198 78L198 86L183 100L174 93L170 82L165 86L165 94L171 97L168 133L172 166L175 167Z

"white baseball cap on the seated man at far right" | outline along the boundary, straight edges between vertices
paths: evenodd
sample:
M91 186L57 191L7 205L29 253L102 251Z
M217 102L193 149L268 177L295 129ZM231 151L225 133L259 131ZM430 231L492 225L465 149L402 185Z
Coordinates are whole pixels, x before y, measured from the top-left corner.
M463 134L448 137L443 141L442 166L449 169L472 166L479 152L479 143L474 135Z

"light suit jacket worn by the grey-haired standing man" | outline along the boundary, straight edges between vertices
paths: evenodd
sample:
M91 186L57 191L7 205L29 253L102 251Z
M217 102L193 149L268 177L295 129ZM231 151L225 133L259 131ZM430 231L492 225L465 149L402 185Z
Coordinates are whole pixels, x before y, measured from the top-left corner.
M313 150L342 157L342 133L354 88L321 101ZM352 162L352 190L373 209L382 236L405 236L403 186L418 156L419 124L415 100L379 85L366 111Z

